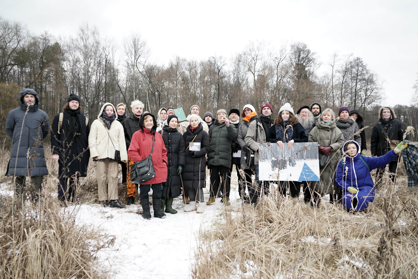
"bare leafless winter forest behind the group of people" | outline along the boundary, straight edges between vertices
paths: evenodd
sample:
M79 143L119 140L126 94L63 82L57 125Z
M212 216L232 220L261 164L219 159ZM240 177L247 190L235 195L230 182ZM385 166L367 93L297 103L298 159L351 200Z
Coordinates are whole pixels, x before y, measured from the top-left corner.
M214 112L247 103L259 107L268 101L274 115L285 102L296 111L318 101L323 109L342 105L357 109L368 126L377 121L385 98L382 81L367 61L355 53L329 53L321 61L303 42L269 46L250 41L231 58L208 53L206 60L175 57L167 65L154 63L151 51L140 33L131 33L116 45L88 24L80 25L76 37L55 38L0 18L0 121L4 123L7 113L17 107L23 87L35 89L40 108L50 119L70 93L79 95L89 122L104 102L130 104L133 99L140 99L154 113L167 106L188 109L199 104L201 112ZM418 94L414 101L394 107L405 127L418 127ZM367 138L371 128L366 130ZM1 139L6 138L3 129L0 133Z

